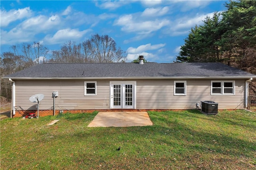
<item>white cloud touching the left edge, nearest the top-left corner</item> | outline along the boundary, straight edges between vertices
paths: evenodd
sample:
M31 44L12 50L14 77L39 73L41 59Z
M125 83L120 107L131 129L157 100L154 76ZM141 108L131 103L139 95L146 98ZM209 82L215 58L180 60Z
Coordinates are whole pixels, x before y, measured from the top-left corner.
M30 10L30 7L22 8L18 10L1 10L1 27L6 27L9 25L9 23L20 20L23 18L28 18L32 15L32 10Z

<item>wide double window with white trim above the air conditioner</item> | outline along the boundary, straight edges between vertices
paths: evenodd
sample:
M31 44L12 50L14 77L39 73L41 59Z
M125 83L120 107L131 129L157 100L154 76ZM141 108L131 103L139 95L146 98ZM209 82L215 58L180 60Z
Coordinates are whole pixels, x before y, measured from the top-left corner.
M211 81L212 95L234 95L235 81Z

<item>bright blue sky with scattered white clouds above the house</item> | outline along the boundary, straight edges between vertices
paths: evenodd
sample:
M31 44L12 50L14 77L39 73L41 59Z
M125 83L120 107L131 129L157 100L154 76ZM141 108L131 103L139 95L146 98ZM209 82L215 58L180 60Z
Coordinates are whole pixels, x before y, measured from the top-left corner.
M0 1L1 54L11 45L40 42L50 51L92 34L109 35L127 53L172 63L191 27L226 10L218 0Z

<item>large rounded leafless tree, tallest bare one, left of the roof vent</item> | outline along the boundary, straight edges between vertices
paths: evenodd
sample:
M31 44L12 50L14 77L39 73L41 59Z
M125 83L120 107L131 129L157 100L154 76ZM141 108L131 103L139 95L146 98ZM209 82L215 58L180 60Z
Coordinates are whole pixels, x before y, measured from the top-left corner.
M92 60L98 63L119 63L126 61L125 52L120 47L116 47L116 42L108 35L92 35L82 45L85 61Z

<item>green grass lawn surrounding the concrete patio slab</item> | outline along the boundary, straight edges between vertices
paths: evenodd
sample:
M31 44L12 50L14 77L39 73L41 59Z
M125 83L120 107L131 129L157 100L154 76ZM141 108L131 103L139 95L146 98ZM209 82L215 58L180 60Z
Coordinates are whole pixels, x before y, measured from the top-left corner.
M153 126L87 127L96 114L0 121L1 169L256 169L255 113L150 111Z

